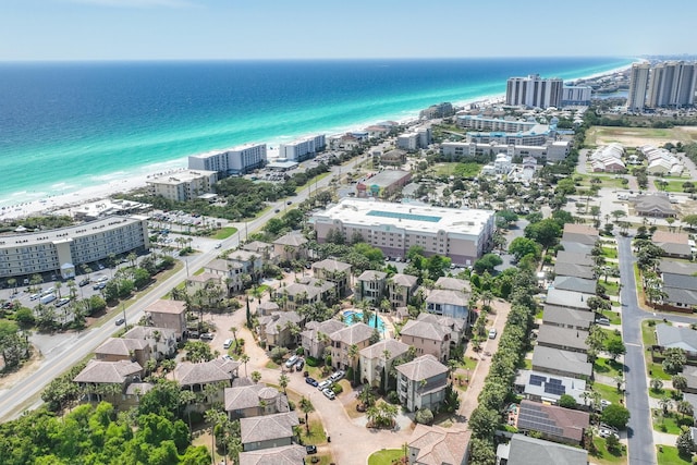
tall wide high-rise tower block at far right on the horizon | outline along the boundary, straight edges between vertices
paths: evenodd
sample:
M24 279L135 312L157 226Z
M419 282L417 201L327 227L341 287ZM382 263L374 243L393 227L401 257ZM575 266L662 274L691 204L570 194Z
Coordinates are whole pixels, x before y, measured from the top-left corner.
M682 108L695 103L695 63L669 61L651 70L649 79L649 108Z

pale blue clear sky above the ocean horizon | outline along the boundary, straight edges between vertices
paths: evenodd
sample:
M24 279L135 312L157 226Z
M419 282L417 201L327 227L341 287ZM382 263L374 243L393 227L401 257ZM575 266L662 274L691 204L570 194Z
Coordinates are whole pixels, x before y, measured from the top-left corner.
M0 61L697 53L694 0L0 0Z

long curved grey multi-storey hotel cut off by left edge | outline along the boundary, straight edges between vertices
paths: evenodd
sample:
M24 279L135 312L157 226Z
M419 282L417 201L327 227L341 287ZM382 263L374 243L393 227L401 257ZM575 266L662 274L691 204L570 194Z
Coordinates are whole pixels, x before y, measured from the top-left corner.
M110 217L52 231L0 235L0 278L56 272L75 276L75 267L149 247L146 217Z

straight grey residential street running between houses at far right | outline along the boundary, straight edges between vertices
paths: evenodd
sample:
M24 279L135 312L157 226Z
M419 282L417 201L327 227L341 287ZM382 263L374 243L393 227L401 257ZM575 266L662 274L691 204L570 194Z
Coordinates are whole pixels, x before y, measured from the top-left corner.
M626 406L632 413L627 427L628 457L631 465L651 465L656 463L656 448L649 409L645 350L641 343L641 320L651 315L638 306L634 279L635 260L629 237L617 237L617 253L623 284L622 334L627 348L624 356Z

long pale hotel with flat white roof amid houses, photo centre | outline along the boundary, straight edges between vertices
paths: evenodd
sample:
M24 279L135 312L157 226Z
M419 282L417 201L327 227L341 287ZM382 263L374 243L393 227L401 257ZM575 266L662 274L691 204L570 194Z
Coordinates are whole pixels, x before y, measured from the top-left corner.
M390 257L406 257L417 245L426 255L450 257L469 266L491 247L493 211L391 204L375 199L343 198L313 215L317 241L327 242L331 231L354 234Z

